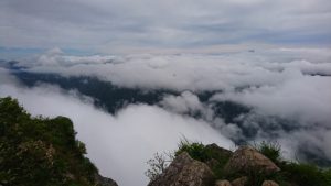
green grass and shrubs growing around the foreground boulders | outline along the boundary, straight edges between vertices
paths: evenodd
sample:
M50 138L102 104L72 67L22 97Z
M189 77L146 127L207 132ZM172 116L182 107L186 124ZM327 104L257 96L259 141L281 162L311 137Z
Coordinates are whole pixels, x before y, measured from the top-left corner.
M217 179L233 180L247 176L247 185L249 186L260 186L266 179L273 179L280 186L331 186L331 169L323 169L305 163L287 162L281 157L281 147L278 143L261 142L255 145L258 152L270 158L281 169L274 174L261 174L258 169L252 169L248 175L227 174L224 172L224 166L231 155L226 151L220 152L220 149L212 146L184 139L180 142L179 150L174 154L188 152L192 158L206 163Z

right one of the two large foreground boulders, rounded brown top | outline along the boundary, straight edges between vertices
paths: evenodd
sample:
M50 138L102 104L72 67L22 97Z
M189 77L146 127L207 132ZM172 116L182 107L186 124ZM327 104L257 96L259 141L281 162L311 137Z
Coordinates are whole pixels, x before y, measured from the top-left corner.
M253 171L270 174L280 171L280 168L250 146L242 146L236 150L225 165L225 172L229 174L236 172L249 174Z

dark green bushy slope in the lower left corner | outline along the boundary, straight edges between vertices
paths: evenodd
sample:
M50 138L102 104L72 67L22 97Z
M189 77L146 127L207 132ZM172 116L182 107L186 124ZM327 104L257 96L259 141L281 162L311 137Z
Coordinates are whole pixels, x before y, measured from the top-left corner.
M67 118L33 118L0 98L0 185L96 185L98 171L75 134Z

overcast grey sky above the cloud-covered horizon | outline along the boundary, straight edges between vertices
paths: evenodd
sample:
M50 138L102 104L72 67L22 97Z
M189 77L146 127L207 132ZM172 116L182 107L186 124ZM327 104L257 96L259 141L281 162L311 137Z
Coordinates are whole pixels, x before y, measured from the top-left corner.
M0 54L320 46L330 22L330 0L1 0Z

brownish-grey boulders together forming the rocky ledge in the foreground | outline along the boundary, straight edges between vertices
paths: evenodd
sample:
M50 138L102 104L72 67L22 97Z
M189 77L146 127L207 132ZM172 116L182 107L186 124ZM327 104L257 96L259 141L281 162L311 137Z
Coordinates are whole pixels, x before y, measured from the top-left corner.
M222 168L228 179L217 179L212 169L220 166L214 158L205 163L193 160L186 152L177 155L169 167L148 186L245 186L250 174L273 174L280 168L265 155L250 146L242 146L234 153L215 144L207 145L214 154L224 158L227 163ZM235 177L235 175L247 175ZM264 180L261 186L278 186L274 180Z

